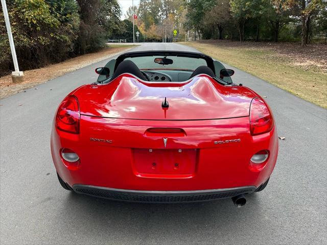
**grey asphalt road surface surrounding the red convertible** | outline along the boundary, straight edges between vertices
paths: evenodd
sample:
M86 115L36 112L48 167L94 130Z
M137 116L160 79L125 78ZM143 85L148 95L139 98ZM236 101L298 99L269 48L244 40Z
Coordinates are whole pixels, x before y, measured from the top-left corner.
M194 51L161 43L135 50ZM54 113L107 61L1 101L1 244L327 243L326 110L238 69L233 80L267 96L278 135L286 138L268 186L243 208L230 199L135 204L65 191L50 154Z

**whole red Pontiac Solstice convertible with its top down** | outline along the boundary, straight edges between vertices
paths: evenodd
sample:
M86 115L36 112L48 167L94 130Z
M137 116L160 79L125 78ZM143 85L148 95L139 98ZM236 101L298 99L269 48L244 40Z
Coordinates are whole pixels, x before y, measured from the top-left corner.
M195 202L263 190L278 140L266 102L200 53L130 52L69 93L51 135L63 188L135 202Z

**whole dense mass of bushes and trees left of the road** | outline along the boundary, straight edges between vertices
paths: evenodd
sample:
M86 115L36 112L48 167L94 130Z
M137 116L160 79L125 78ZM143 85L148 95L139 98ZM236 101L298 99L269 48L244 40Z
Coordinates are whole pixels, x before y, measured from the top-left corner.
M21 70L39 68L104 47L119 28L116 0L7 0ZM3 11L0 11L0 76L13 70Z

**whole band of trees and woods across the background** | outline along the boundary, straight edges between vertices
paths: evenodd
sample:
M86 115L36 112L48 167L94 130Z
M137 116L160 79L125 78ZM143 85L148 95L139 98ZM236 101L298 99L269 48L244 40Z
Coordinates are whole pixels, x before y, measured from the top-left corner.
M21 70L101 50L108 39L326 43L326 0L141 0L121 20L117 0L7 0ZM177 34L174 35L173 31ZM13 69L0 11L0 76Z

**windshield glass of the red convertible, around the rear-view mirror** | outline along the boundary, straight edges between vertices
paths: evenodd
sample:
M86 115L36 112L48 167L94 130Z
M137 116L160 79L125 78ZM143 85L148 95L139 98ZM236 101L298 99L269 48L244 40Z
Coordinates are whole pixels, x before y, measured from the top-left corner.
M154 62L156 58L167 58L173 61L172 64L159 64ZM144 57L128 57L125 60L133 61L139 69L178 69L193 71L201 65L207 65L204 59L177 57L177 56L144 56Z

